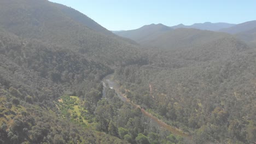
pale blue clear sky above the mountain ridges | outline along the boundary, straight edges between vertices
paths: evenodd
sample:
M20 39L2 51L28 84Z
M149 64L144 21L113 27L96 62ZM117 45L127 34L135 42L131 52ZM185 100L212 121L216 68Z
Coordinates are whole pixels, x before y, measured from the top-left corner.
M256 1L240 0L50 0L72 7L109 30L201 22L256 20Z

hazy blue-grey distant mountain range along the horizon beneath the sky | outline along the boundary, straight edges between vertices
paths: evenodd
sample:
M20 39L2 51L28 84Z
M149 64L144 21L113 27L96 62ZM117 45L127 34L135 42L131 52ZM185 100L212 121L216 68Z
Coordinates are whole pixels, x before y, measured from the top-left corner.
M161 23L155 25L146 25L138 29L133 29L129 31L112 31L113 33L124 37L135 40L139 44L148 44L150 41L160 37L160 35L173 31L178 28L194 28L200 30L207 31L215 31L215 32L225 32L229 34L235 34L235 37L255 43L256 39L256 21L248 21L240 24L232 24L232 23L194 23L190 26L185 26L183 24L179 24L177 26L165 26Z

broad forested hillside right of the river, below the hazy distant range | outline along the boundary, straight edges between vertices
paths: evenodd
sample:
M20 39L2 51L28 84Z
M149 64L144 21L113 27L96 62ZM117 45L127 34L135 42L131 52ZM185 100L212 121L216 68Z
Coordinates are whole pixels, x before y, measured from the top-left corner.
M127 97L188 131L193 143L255 141L255 47L225 33L176 29L143 50L149 65L115 71Z

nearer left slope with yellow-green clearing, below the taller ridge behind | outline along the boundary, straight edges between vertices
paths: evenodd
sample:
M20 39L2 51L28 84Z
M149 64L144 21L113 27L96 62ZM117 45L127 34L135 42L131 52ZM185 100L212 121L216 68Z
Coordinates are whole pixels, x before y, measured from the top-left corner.
M0 29L0 143L136 143L158 135L141 110L103 88L108 73L77 52ZM183 141L168 131L153 140Z

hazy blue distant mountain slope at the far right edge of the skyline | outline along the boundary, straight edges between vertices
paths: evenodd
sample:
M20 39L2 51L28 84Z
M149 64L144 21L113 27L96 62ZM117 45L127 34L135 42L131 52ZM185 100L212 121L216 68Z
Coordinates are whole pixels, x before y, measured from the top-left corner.
M244 23L240 23L238 25L232 26L230 28L220 29L220 32L226 32L230 34L242 33L250 31L251 29L256 27L256 21L248 21Z

